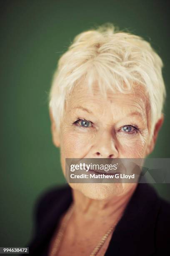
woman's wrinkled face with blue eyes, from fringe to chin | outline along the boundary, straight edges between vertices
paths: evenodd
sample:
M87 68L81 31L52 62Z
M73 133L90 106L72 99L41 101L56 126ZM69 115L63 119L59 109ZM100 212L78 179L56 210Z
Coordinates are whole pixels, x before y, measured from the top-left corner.
M107 91L97 84L93 95L84 84L75 87L67 100L58 135L60 158L145 158L149 139L148 102L142 90L129 94ZM125 193L135 184L73 184L87 197L106 199Z

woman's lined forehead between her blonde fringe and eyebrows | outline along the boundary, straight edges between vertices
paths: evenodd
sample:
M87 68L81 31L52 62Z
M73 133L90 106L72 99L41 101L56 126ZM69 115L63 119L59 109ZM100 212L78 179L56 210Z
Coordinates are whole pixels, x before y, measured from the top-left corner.
M84 83L78 84L72 90L67 101L69 108L77 106L95 108L101 110L106 107L148 109L148 97L143 86L133 85L128 93L122 93L118 90L107 89L106 96L101 92L97 82L93 84L92 90L89 90ZM127 109L128 110L128 109Z

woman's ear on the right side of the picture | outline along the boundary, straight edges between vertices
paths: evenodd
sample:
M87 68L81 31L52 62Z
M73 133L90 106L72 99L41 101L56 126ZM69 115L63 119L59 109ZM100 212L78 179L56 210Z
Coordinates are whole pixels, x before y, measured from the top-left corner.
M153 149L155 148L155 144L158 138L158 132L160 131L161 126L163 125L164 121L164 115L162 113L161 118L158 120L158 122L155 124L155 129L153 133L153 137L150 141L150 144L148 145L148 148L146 150L146 155L149 155L153 152Z

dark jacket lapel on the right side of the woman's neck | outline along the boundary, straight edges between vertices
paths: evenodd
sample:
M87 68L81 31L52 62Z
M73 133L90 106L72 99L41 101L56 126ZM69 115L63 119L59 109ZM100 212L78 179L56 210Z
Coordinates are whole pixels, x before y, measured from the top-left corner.
M138 184L105 253L110 255L145 256L155 251L154 229L160 208L155 190Z

